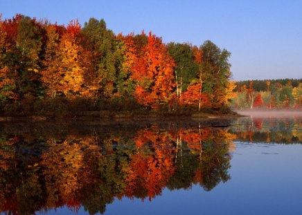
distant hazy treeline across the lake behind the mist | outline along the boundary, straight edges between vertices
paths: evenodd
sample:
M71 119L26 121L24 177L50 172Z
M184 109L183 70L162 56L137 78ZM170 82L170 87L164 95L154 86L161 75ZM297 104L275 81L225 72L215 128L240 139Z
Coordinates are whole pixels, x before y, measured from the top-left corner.
M236 109L301 109L302 79L236 82L231 107Z

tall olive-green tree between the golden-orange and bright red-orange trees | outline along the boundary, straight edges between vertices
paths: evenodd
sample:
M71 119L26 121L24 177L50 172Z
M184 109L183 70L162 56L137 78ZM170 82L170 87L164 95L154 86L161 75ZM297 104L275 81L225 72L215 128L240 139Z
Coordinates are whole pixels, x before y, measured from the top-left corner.
M112 98L116 93L123 94L127 75L121 72L123 62L123 42L117 39L112 30L108 30L104 19L91 18L82 28L87 39L86 45L94 56L92 77L95 88L105 98ZM88 77L91 77L89 75Z

